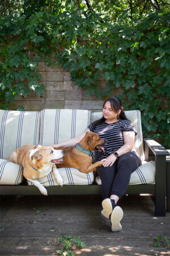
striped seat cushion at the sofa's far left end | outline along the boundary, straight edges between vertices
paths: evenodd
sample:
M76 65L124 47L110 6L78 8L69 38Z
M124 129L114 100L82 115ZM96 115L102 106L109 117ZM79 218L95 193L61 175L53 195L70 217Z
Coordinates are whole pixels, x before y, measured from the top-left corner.
M18 185L23 181L23 167L0 159L0 184Z

